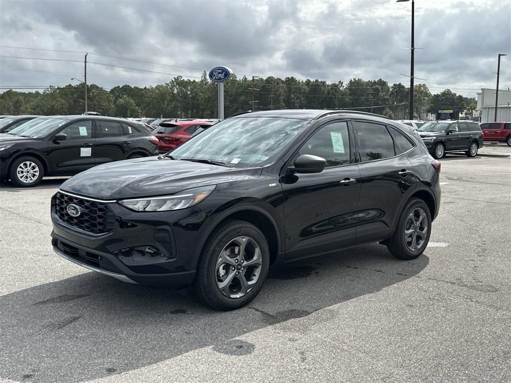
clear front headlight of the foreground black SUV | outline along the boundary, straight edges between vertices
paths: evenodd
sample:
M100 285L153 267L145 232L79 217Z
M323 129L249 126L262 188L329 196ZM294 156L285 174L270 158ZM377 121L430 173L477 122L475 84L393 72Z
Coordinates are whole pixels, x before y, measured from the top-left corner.
M215 185L194 187L193 189L183 190L172 196L136 198L121 200L119 203L135 211L179 210L197 205L200 201L209 196L213 190L215 190L215 187Z

